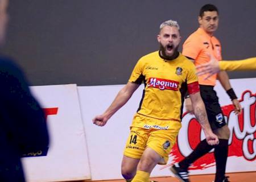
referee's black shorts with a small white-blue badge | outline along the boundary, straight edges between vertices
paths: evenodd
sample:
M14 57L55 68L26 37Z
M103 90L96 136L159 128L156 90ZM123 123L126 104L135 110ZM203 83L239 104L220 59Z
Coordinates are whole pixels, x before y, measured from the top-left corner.
M217 94L215 90L213 90L213 86L200 85L200 93L205 104L207 117L212 130L225 126L225 118L222 113L221 106L218 102Z

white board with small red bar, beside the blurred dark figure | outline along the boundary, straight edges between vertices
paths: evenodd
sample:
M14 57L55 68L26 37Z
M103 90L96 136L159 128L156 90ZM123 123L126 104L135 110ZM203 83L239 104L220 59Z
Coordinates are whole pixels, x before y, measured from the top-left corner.
M32 86L31 91L46 111L50 145L46 156L22 158L27 181L90 179L77 86Z

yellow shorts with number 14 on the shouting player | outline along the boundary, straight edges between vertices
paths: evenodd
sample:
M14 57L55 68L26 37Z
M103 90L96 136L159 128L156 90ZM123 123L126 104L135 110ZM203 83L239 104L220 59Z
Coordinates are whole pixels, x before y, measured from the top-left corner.
M136 121L133 121L123 155L130 158L141 159L146 147L150 147L162 156L163 161L159 164L166 164L171 148L176 142L181 123L179 121L163 121L142 115L139 116L139 119L145 121L143 124L145 127L135 127ZM136 115L134 120L138 120ZM139 122L142 123L142 121ZM163 122L168 123L168 129L165 129L166 127L164 126L166 125L161 125ZM158 125L157 123L160 124Z

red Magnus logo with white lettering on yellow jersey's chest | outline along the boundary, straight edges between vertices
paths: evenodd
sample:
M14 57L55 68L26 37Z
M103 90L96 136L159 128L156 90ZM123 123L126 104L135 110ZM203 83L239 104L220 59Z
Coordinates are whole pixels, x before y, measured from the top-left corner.
M160 90L178 90L179 82L173 80L166 80L162 78L149 78L148 87L159 88Z

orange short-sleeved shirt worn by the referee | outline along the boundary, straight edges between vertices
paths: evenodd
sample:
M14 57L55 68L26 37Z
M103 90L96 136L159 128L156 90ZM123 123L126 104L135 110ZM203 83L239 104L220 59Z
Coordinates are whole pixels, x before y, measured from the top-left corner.
M202 28L198 28L193 32L183 44L182 54L195 60L195 65L208 63L209 55L214 56L217 60L221 60L221 44L214 36L209 36ZM204 80L205 75L199 76L200 85L216 84L217 74L210 76Z

